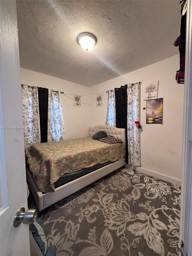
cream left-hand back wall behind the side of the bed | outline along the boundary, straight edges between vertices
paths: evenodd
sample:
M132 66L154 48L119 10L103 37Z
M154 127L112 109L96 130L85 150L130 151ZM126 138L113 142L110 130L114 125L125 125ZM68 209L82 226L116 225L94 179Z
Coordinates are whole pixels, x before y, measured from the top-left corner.
M87 95L90 88L56 77L21 68L21 84L39 86L55 91L60 90L69 94ZM65 139L74 139L88 136L89 127L89 97L82 97L82 106L73 106L73 96L61 94L64 116Z

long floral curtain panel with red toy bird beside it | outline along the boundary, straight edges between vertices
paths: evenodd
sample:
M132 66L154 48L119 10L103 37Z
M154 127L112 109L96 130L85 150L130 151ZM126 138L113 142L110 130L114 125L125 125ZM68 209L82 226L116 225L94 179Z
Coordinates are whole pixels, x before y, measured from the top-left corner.
M139 130L135 121L139 120L139 86L128 85L127 88L127 136L128 136L128 164L140 166ZM128 164L125 165L128 168Z

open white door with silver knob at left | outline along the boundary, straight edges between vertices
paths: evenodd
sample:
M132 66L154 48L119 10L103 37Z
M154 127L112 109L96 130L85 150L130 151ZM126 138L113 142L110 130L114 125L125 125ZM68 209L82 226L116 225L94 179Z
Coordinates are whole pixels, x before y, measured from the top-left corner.
M1 256L30 255L29 225L13 227L17 210L28 209L19 66L16 2L0 1Z

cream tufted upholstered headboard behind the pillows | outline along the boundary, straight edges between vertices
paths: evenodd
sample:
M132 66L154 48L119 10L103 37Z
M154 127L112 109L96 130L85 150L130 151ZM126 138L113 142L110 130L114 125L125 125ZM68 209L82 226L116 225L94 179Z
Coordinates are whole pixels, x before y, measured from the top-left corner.
M92 137L98 131L105 131L108 135L112 135L117 139L121 139L123 143L126 144L125 129L116 128L115 126L109 125L96 125L89 127L89 137Z

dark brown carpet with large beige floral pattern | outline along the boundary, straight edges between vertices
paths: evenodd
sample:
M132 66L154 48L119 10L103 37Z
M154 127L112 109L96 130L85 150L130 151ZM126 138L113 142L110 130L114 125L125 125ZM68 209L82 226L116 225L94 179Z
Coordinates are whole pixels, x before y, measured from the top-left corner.
M41 218L57 256L177 256L180 206L179 186L119 169Z

